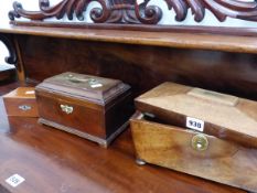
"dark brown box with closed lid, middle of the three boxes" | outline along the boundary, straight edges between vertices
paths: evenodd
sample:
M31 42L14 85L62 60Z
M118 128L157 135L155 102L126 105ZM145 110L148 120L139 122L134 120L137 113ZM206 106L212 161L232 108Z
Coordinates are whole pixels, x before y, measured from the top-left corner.
M39 121L107 147L133 111L130 86L117 79L64 73L35 88Z

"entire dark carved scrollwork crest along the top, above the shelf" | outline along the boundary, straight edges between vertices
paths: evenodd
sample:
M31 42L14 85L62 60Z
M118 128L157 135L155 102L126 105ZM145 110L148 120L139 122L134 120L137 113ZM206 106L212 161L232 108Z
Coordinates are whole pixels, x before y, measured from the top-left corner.
M90 2L98 2L100 7L87 10ZM211 11L221 22L227 17L247 21L257 21L257 1L243 0L163 0L170 10L174 10L175 20L184 21L192 11L194 20L201 22L206 10ZM74 14L78 20L84 20L84 13L89 15L95 23L137 23L157 24L163 14L158 6L149 6L150 0L63 0L50 7L49 0L40 0L40 11L26 11L19 2L13 3L13 11L9 12L10 20L28 18L44 20L46 18L62 19L65 14L73 20Z

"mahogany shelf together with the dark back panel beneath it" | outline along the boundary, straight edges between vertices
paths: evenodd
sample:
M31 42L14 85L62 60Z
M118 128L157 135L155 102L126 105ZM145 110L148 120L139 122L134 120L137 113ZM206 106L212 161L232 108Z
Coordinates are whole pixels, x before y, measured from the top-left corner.
M41 82L72 71L121 79L132 86L135 96L170 81L256 99L254 34L190 33L183 28L133 31L127 25L111 30L103 25L3 24L0 32L12 34L21 81Z

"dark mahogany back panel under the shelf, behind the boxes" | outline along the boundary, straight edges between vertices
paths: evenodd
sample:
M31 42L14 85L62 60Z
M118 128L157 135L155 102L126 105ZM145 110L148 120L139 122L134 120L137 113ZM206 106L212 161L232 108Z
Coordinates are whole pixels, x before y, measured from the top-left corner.
M121 79L136 96L169 81L257 99L255 54L31 35L18 41L30 81L69 71Z

